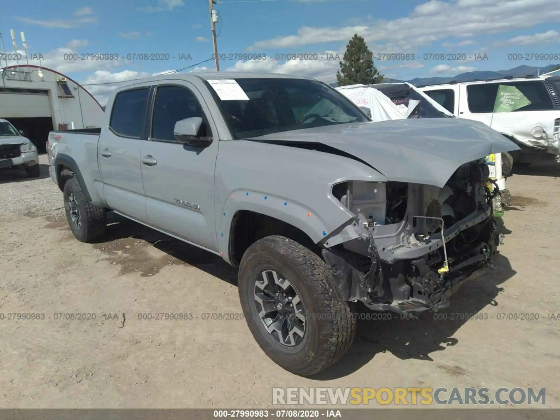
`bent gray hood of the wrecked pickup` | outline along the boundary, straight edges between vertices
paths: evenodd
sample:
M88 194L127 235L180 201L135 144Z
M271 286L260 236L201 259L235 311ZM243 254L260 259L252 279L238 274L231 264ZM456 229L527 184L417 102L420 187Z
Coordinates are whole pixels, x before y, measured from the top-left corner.
M492 153L519 150L487 125L459 118L405 119L306 128L250 138L323 143L365 161L390 181L442 188L455 170Z

